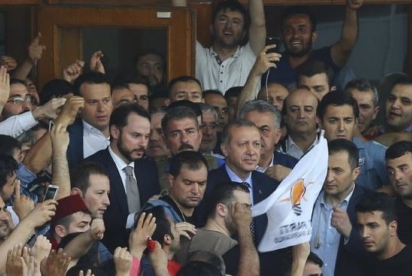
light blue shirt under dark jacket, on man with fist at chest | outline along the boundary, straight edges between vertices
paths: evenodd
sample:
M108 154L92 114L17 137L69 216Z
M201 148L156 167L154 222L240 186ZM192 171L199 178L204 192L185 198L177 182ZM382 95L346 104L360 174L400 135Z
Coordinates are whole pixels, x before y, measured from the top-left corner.
M346 210L353 190L338 205ZM322 273L324 276L335 275L336 257L338 256L341 234L331 225L333 206L326 203L324 192L319 194L312 214L312 237L310 239L310 251L315 253L323 261Z

